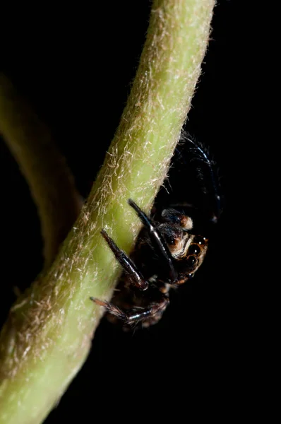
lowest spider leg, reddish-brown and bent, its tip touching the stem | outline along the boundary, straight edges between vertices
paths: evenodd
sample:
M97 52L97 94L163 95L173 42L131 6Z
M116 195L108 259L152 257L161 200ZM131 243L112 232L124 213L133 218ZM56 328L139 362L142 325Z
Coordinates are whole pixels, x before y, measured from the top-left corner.
M159 302L153 302L148 307L138 307L129 310L121 310L119 307L112 305L112 303L106 300L99 300L96 298L90 298L90 300L96 305L103 306L109 314L121 319L125 324L138 324L138 322L153 319L155 315L162 314L169 305L169 298L167 295L163 295Z

